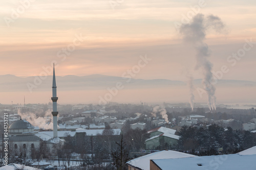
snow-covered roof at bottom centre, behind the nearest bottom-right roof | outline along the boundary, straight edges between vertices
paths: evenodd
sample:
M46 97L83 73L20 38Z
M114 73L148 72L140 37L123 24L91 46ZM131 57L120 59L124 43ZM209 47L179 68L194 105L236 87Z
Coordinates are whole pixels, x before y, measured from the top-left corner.
M132 159L126 162L126 164L142 170L150 170L151 159L170 159L170 158L186 158L186 157L197 157L197 156L185 154L177 151L159 151L159 152L148 154L136 159Z

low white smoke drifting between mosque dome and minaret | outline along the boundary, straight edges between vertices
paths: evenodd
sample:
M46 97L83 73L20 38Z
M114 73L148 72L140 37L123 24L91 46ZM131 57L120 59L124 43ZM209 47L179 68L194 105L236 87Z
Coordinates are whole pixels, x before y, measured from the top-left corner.
M33 112L21 113L18 111L18 114L33 126L38 126L40 129L46 130L53 129L52 113L50 110L47 110L44 116L37 116Z

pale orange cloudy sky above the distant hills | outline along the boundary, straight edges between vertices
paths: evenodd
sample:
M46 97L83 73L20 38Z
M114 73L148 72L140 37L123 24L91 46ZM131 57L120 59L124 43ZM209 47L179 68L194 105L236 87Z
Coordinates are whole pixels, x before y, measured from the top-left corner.
M146 56L136 79L187 81L188 72L201 79L196 52L184 42L179 26L202 13L218 16L225 25L224 32L206 32L212 71L226 66L222 79L256 81L256 43L246 44L256 42L254 0L0 3L0 75L39 76L55 63L58 76L123 77ZM245 44L250 49L243 57L229 58Z

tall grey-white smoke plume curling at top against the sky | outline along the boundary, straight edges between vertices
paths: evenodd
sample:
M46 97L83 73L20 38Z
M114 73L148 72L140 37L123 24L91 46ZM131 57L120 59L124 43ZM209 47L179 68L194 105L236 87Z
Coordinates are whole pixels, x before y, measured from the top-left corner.
M184 36L184 40L193 44L197 50L197 66L203 72L202 84L208 95L208 106L210 110L216 110L215 87L210 82L213 79L212 64L207 57L210 56L208 45L204 43L206 31L214 29L216 32L221 32L224 29L224 24L221 19L214 15L205 17L203 14L197 14L190 23L182 25L180 33Z

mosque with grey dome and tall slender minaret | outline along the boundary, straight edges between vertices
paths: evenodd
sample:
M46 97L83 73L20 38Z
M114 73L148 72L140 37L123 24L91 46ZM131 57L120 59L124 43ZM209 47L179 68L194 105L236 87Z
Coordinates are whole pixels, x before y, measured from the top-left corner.
M56 96L56 80L55 70L53 66L53 85L52 85L52 101L53 101L53 136L44 132L38 132L34 127L23 120L13 122L8 129L9 135L9 155L20 156L23 158L36 158L35 153L39 152L39 148L49 149L47 152L51 153L51 156L56 155L56 148L61 147L65 140L60 139L57 136L57 96ZM38 156L38 154L37 154Z

